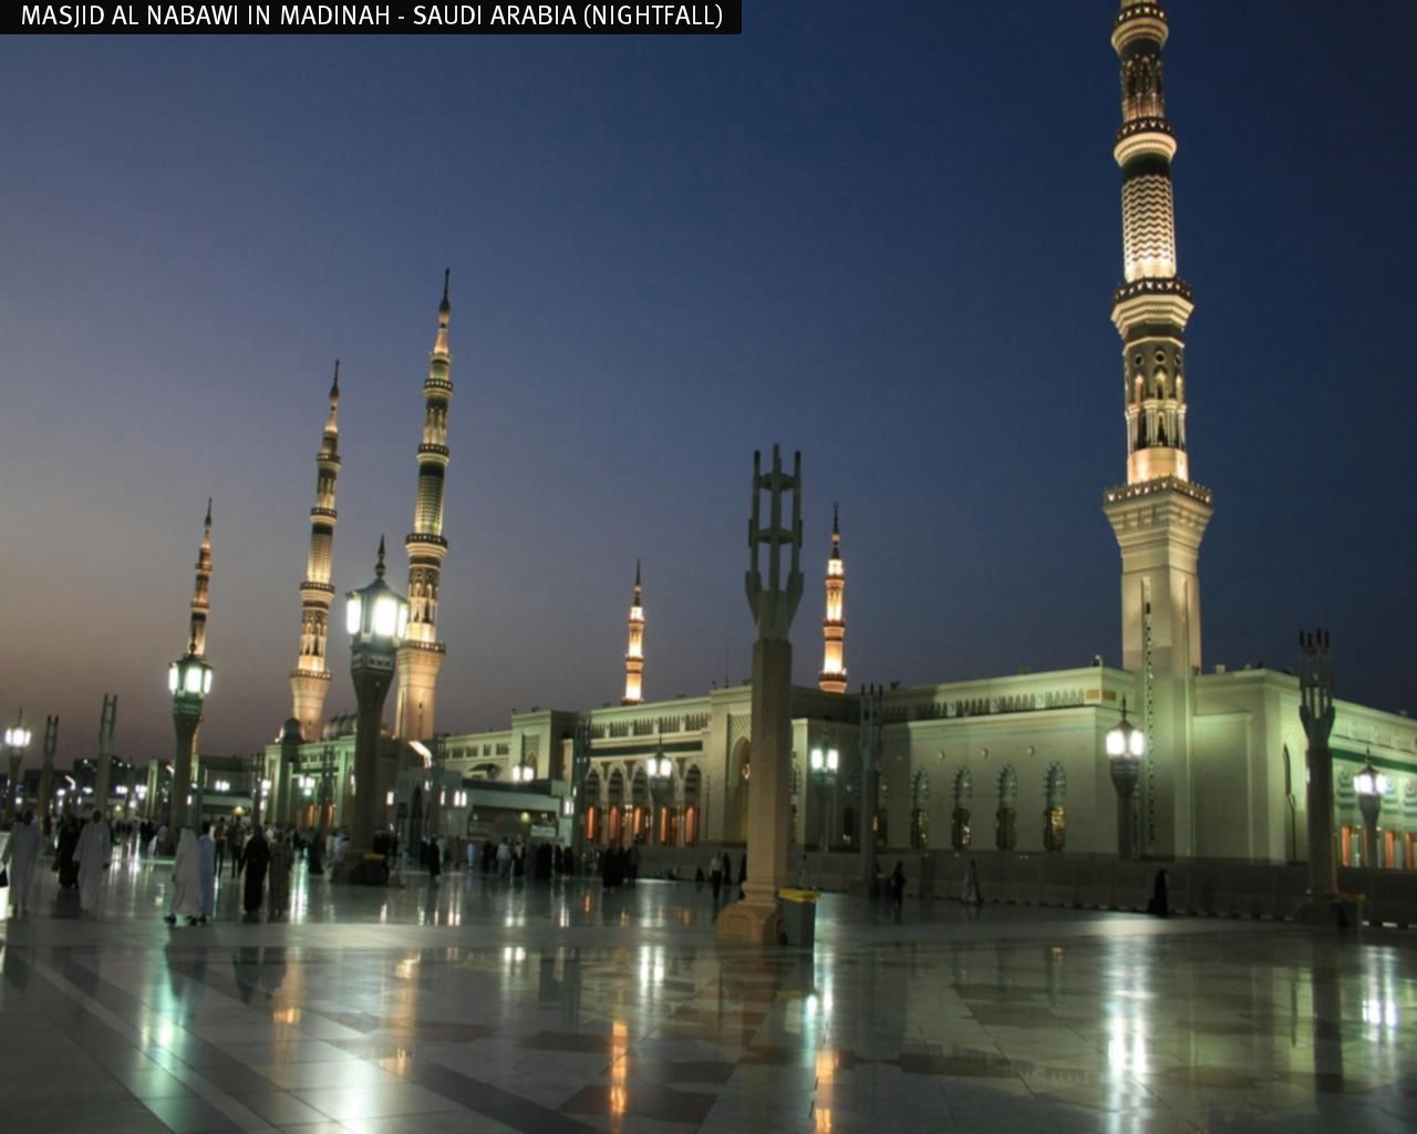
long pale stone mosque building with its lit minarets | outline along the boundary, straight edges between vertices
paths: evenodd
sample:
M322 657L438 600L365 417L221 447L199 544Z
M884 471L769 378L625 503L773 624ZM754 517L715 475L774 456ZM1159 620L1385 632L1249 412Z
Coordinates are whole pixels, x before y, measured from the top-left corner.
M833 509L825 571L822 668L792 690L792 836L799 848L850 850L873 828L890 849L1118 852L1118 795L1107 733L1124 707L1146 737L1132 850L1156 859L1298 862L1306 856L1299 680L1288 670L1202 665L1200 544L1214 496L1192 479L1190 370L1185 330L1193 293L1180 278L1166 118L1166 14L1121 0L1111 41L1121 65L1122 284L1112 295L1121 339L1125 479L1101 507L1121 551L1121 666L891 686L881 692L879 770L863 758L863 695L850 692L846 563ZM410 635L398 653L394 726L383 744L390 822L405 839L439 831L483 839L584 838L589 845L743 843L752 792L751 689L714 687L655 700L640 570L625 651L623 696L585 712L513 713L496 731L436 731L445 645L436 635L452 397L446 281L424 383L424 435L410 553ZM1202 394L1204 383L1199 387ZM266 748L279 814L339 821L353 765L354 720L320 724L334 476L336 407L317 456L310 557L302 584L292 719ZM849 519L849 517L847 517ZM608 675L609 676L609 675ZM1362 829L1353 777L1386 773L1379 862L1417 865L1417 723L1335 702L1335 826L1355 863ZM577 760L577 756L581 760ZM667 774L666 774L667 773ZM877 775L867 785L866 778ZM874 790L869 790L874 788ZM874 797L874 814L864 799ZM1365 863L1367 865L1367 863Z

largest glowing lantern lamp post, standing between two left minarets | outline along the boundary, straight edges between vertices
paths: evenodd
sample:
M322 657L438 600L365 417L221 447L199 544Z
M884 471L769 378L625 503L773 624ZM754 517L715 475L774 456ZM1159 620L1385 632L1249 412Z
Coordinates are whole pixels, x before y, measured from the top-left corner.
M384 723L384 697L394 678L394 653L408 628L408 601L384 583L384 540L378 541L374 581L349 593L346 627L353 636L350 673L359 702L354 733L354 785L350 846L368 850L378 829L384 792L378 782L378 741ZM356 853L354 862L359 862Z

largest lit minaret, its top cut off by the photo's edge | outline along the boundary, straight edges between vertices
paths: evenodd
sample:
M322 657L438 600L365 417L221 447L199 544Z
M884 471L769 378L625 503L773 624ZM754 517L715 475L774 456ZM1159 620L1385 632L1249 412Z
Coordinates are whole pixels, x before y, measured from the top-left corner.
M1122 337L1127 483L1108 489L1107 519L1122 551L1122 665L1138 675L1148 737L1139 845L1144 853L1193 855L1192 709L1200 670L1200 540L1209 489L1190 479L1182 335L1190 288L1176 274L1162 47L1166 14L1155 0L1122 0L1112 23L1121 58L1122 126L1112 150L1122 169L1125 282L1112 295Z

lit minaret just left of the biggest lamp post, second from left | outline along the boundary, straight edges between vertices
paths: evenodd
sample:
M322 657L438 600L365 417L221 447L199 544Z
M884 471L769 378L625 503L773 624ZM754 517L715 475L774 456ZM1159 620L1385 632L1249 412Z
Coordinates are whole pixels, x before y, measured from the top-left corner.
M340 473L340 360L334 360L330 386L330 415L315 458L315 507L310 509L310 551L300 584L300 655L290 670L290 716L300 722L305 740L319 740L324 723L324 695L330 689L330 666L324 646L330 634L330 602L334 587L334 479Z

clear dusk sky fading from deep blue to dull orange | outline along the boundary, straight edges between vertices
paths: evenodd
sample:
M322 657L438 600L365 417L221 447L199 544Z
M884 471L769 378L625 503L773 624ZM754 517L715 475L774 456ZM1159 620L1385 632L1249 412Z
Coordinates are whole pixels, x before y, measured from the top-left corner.
M324 394L340 595L407 574L452 268L439 731L750 670L754 448L803 454L795 675L842 507L852 686L1119 662L1115 0L750 3L741 37L6 37L0 720L205 753L289 716ZM1417 6L1175 0L1203 658L1417 710ZM863 13L869 13L864 16ZM339 607L336 615L339 615ZM329 712L353 712L343 618ZM387 712L393 713L393 696Z

